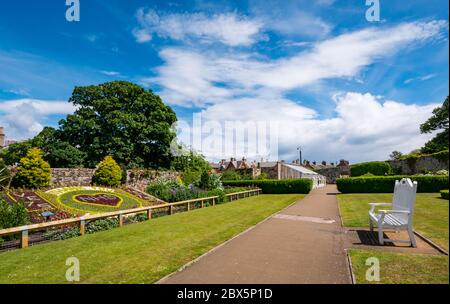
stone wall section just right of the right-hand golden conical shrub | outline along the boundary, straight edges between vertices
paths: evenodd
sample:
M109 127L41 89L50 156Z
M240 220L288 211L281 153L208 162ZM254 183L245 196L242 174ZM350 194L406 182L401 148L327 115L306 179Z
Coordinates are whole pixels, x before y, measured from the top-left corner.
M176 180L180 173L174 171L156 171L150 169L134 169L127 171L127 185L145 191L147 185L157 180Z

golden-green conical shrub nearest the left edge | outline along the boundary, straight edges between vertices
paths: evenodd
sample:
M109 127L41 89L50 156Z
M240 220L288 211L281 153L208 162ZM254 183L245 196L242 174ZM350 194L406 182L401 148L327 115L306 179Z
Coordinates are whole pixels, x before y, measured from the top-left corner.
M17 187L37 189L50 185L50 165L42 159L42 151L31 148L27 155L20 160L14 185Z

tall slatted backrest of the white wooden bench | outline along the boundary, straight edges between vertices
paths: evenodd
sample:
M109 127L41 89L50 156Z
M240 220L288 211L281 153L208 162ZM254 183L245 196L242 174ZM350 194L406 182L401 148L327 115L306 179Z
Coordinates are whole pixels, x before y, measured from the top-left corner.
M411 215L416 202L417 182L409 178L395 181L394 197L392 199L393 210L408 210Z

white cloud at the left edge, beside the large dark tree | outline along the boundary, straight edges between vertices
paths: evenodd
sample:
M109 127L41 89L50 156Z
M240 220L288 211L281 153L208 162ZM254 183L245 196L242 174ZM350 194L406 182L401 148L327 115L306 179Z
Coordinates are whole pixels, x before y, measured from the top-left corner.
M0 125L8 138L27 139L39 133L50 115L64 115L75 111L67 101L17 99L0 101Z

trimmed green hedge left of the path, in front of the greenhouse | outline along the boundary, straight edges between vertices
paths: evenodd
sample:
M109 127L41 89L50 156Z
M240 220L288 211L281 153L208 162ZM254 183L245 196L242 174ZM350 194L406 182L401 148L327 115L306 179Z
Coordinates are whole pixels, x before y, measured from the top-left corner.
M264 194L308 194L313 186L312 180L308 178L283 179L283 180L235 180L223 181L224 186L233 187L258 187Z

